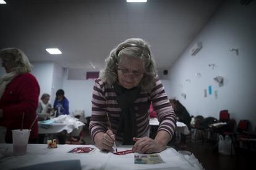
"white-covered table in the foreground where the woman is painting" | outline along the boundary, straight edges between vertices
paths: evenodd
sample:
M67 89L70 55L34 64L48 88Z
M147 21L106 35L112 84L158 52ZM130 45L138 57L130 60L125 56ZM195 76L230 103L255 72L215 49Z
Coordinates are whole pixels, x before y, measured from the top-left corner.
M95 150L90 153L68 153L75 147L93 147ZM6 156L0 158L1 169L22 168L40 163L70 160L80 161L81 169L203 169L193 154L182 155L174 148L167 148L159 153L165 162L160 164L135 164L134 153L119 156L111 152L101 152L94 145L58 145L58 148L47 148L46 144L28 144L27 154L22 156L12 156L12 144L0 144L0 148L7 148L8 150L5 153ZM119 151L123 151L130 150L132 146L119 146L117 148ZM68 166L72 166L72 164ZM46 164L40 167L53 169L49 166L46 167Z

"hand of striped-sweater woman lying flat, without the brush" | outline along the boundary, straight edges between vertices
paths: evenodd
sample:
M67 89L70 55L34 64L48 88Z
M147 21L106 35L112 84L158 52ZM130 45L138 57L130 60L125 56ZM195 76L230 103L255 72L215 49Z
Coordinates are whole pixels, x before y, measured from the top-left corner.
M165 149L165 145L157 139L151 139L150 137L134 137L136 142L132 148L132 152L136 150L143 153L159 153Z

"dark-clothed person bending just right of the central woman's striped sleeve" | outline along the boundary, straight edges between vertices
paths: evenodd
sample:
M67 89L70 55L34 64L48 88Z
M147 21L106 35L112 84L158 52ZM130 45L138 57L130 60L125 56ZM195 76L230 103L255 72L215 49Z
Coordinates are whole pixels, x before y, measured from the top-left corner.
M170 99L171 106L174 109L174 113L177 116L177 121L181 121L182 123L186 124L187 127L190 129L190 115L187 109L179 102L179 100ZM186 144L186 135L181 134L181 145Z

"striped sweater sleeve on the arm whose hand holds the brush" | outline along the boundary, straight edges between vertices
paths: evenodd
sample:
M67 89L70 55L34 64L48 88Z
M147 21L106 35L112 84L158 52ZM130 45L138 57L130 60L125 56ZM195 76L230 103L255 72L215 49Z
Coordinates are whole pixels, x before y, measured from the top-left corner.
M92 118L89 126L93 141L98 132L106 132L108 130L106 124L106 98L104 91L104 84L100 79L96 79L93 87Z

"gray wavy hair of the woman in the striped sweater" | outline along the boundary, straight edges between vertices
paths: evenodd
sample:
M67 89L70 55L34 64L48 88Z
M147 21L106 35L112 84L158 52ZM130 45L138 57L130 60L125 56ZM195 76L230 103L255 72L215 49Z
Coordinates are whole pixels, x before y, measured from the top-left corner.
M149 44L140 38L130 38L118 44L109 57L106 58L106 67L100 71L100 79L108 85L113 85L118 81L117 67L122 57L135 57L143 62L144 75L138 86L146 92L150 92L155 86L156 68L155 60L150 51Z

